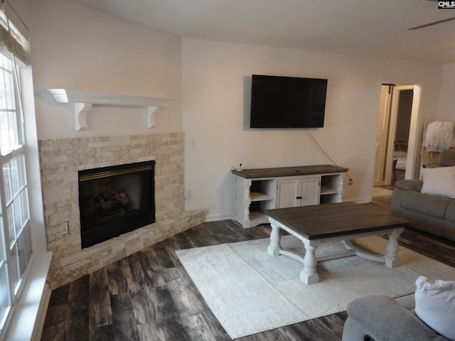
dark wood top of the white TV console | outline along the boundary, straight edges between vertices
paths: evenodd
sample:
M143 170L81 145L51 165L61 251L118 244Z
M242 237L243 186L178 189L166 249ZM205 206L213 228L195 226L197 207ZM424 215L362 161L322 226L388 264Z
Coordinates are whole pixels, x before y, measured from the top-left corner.
M317 166L297 166L297 167L281 167L281 168L253 168L242 169L242 171L232 170L232 173L242 178L281 178L282 176L296 175L314 175L314 174L329 174L329 173L346 173L348 168L332 166L332 165L317 165Z

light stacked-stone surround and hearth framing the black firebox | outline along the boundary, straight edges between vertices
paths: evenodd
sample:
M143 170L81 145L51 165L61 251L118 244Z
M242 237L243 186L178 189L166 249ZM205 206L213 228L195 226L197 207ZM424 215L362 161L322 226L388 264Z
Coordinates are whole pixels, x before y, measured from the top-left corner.
M51 290L205 221L207 210L184 209L183 138L177 132L39 141ZM77 172L152 160L156 221L82 249Z

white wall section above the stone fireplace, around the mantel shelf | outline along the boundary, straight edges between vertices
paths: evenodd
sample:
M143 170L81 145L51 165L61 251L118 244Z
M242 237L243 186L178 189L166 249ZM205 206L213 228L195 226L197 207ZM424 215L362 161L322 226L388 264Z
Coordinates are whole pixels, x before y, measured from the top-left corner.
M31 49L38 139L181 131L181 102L146 129L145 109L94 107L73 131L67 104L45 89L181 99L181 39L70 0L33 0Z

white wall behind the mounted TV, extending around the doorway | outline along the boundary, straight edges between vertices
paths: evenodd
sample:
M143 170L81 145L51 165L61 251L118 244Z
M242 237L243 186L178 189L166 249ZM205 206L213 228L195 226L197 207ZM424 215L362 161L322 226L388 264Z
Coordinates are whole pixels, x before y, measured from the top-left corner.
M304 50L184 38L183 130L186 132L187 208L209 207L209 220L229 219L230 168L331 163L306 131L245 129L252 74L328 78L326 121L311 130L354 182L345 199L369 201L382 82L420 84L422 114L435 116L441 66ZM421 119L422 121L423 119Z

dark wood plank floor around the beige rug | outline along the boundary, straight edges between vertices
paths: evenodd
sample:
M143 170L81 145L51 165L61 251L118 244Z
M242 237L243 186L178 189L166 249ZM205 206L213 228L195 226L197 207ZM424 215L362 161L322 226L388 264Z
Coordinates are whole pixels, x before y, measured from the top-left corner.
M373 202L388 210L390 196ZM267 224L203 223L55 289L41 340L231 340L174 251L266 238L269 231ZM455 266L453 242L406 229L400 244ZM341 340L346 318L337 313L237 340Z

